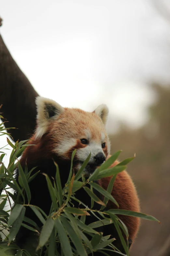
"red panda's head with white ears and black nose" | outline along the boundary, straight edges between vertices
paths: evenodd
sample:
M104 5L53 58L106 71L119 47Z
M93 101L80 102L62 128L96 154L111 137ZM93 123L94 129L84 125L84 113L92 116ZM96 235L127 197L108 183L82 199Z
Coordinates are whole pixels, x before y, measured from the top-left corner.
M108 108L98 106L93 112L63 108L55 101L43 97L36 98L37 128L35 141L50 138L50 151L60 159L70 160L74 149L74 168L78 170L91 152L85 170L92 173L109 155L110 142L106 133Z

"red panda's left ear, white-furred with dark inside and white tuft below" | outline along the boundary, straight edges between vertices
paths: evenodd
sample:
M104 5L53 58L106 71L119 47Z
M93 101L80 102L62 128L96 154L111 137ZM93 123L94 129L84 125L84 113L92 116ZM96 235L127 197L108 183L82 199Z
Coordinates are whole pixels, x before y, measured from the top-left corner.
M35 103L37 108L35 139L37 139L41 138L47 131L50 120L54 118L56 119L64 112L64 108L54 100L40 96L36 97Z

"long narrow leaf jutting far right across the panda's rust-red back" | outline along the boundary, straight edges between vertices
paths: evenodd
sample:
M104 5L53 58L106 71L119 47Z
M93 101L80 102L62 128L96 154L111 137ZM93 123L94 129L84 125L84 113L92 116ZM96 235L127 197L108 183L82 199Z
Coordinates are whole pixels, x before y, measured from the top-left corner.
M144 214L144 213L137 213L137 212L133 212L133 211L112 209L112 210L106 211L105 213L107 213L107 214L113 213L113 214L133 216L133 217L138 217L138 218L145 219L145 220L158 221L159 223L161 223L159 220L157 220L153 216L150 216L150 215L147 215L147 214Z

